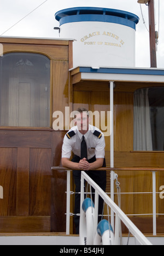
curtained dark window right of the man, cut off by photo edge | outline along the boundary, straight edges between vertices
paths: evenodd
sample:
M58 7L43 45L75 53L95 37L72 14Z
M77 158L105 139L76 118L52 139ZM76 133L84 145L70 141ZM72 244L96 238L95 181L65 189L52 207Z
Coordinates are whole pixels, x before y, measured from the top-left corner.
M164 87L134 92L134 150L164 150Z

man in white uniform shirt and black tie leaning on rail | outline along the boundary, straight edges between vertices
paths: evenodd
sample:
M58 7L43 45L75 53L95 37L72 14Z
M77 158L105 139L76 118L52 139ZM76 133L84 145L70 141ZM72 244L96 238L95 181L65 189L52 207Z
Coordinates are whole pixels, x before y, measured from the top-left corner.
M99 187L106 191L106 171L92 171L106 167L105 140L103 133L95 126L89 125L87 110L79 108L75 113L76 126L65 135L62 146L62 165L73 170L75 183L75 210L80 213L80 180L81 170L84 170ZM72 160L71 153L74 157ZM93 191L92 191L93 192ZM92 195L94 200L95 195ZM103 213L103 200L99 197L98 214ZM101 220L101 217L99 218ZM79 234L79 216L74 216L76 234Z

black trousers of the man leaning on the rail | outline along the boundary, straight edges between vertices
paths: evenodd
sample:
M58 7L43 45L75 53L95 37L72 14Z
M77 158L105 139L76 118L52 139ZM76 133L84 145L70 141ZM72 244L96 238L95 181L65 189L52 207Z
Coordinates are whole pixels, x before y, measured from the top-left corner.
M75 155L72 159L72 162L79 162L80 157ZM94 156L90 160L87 160L89 163L95 162L96 157ZM106 160L104 159L104 163L102 167L106 167ZM86 174L93 179L94 182L96 182L97 185L103 191L106 191L106 184L107 184L107 173L106 171L85 171ZM75 193L79 193L81 190L81 171L75 170L73 171L73 177L74 177L74 183L75 183ZM92 189L92 193L94 193L95 190ZM92 194L92 200L95 201L95 194ZM74 214L80 213L80 194L75 194L75 207L74 207ZM99 196L98 201L98 214L103 214L103 199ZM98 222L101 220L101 217L98 217ZM74 215L74 224L75 224L75 230L76 234L79 234L79 222L80 217L77 215Z

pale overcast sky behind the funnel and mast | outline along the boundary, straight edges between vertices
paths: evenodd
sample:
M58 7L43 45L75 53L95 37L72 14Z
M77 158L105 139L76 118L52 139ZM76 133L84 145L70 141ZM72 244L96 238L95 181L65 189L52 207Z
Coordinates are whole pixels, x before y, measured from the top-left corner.
M154 2L156 31L159 31L157 67L164 68L164 0L154 0ZM37 8L39 5L40 7ZM136 31L136 67L150 67L149 32L147 31L147 28L149 29L148 7L141 4L144 25L140 4L137 3L137 0L0 0L0 35L58 38L58 32L54 30L54 27L59 25L55 20L55 13L66 8L84 6L125 10L139 16L140 20ZM31 11L33 12L31 13ZM31 14L26 16L29 13ZM26 18L22 19L25 16ZM21 21L16 24L19 20ZM16 25L12 27L14 24ZM9 28L10 30L8 30Z

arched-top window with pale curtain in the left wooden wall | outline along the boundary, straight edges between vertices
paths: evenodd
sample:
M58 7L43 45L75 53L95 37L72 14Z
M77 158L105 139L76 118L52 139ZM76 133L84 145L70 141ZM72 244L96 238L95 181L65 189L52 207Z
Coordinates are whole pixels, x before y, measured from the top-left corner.
M41 54L0 57L0 126L50 126L50 60Z

